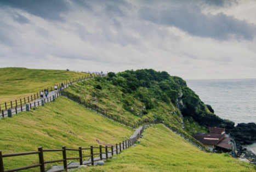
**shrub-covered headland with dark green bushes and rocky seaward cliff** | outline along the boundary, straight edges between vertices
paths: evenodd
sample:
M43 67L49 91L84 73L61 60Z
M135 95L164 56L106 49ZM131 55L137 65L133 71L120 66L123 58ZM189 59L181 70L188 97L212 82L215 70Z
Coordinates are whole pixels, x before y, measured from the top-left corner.
M109 73L104 78L79 82L65 93L121 118L164 121L181 130L185 125L190 134L207 132L208 126L232 125L209 111L183 79L152 69Z

